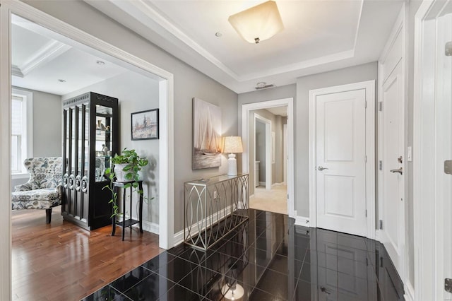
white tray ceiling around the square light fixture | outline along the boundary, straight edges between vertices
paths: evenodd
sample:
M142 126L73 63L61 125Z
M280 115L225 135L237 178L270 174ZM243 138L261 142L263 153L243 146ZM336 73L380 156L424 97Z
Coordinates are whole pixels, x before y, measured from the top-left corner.
M85 0L237 93L377 61L403 0L278 0L285 30L259 44L227 22L263 1ZM215 33L222 37L215 37Z

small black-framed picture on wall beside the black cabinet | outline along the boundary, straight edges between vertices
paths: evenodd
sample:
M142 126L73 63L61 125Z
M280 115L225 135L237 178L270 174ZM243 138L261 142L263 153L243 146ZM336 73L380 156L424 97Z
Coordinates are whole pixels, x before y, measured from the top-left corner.
M131 139L149 140L159 138L158 109L131 113Z

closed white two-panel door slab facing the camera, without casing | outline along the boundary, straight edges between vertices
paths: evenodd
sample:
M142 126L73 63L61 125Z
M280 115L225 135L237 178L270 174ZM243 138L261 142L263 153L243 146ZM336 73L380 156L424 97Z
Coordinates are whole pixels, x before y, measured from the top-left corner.
M316 96L319 228L366 236L366 90Z

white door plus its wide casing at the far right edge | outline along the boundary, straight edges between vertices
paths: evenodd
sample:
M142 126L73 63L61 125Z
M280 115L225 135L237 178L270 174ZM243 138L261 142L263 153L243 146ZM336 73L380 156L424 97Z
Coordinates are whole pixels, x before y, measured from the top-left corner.
M422 1L415 16L413 209L415 300L452 300L452 1Z

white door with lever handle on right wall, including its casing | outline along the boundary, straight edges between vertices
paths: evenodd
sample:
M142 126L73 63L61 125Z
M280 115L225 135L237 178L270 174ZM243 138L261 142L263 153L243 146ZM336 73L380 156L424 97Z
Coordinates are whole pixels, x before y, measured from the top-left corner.
M403 283L406 279L405 201L405 6L379 60L379 230L377 239L391 257ZM402 173L397 172L401 170ZM392 171L392 172L391 172ZM406 286L405 286L406 288Z

